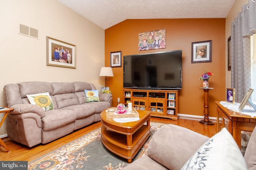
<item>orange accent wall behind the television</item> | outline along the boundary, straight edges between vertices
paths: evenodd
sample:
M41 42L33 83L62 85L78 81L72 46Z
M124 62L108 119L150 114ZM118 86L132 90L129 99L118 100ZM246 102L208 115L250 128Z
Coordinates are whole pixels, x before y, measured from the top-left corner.
M138 51L138 34L166 29L166 49ZM191 63L192 42L212 40L212 62ZM209 80L210 117L216 117L214 101L225 100L225 18L210 19L149 19L125 20L105 30L105 66L110 66L110 52L122 51L124 55L182 50L182 90L179 91L180 114L204 115L204 90L199 77L206 68L214 75ZM112 68L107 86L113 95L112 106L123 100L122 67Z

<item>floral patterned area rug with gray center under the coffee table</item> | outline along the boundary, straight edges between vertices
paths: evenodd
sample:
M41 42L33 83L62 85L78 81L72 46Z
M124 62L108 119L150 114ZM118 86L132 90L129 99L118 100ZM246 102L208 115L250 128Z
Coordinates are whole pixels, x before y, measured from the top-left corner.
M132 159L147 154L152 135L164 123L150 122L151 135ZM101 128L98 128L71 143L28 163L28 170L121 170L129 163L110 152L101 143Z

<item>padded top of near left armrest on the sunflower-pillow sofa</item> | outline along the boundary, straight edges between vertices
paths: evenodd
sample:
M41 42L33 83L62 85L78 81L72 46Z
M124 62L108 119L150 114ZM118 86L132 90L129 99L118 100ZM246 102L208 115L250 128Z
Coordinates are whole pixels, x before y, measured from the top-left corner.
M16 104L12 108L14 108L14 111L11 114L36 113L41 118L45 116L44 109L34 104Z

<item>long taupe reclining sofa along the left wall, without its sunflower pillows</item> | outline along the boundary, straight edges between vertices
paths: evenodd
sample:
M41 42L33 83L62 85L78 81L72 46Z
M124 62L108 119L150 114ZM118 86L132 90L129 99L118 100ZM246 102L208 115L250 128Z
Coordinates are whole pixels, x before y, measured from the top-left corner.
M112 104L111 94L99 94L100 102L86 103L84 90L96 90L87 82L21 82L4 86L5 106L14 108L6 118L7 135L33 147L49 143L76 129L100 121L100 113ZM53 110L30 104L27 94L49 92Z

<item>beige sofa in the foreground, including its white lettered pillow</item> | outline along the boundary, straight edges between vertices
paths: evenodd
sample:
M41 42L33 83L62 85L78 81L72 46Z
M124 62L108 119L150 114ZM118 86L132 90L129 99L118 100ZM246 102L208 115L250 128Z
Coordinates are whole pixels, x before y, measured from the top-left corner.
M184 127L164 125L152 136L147 155L123 170L256 170L255 141L256 127L243 156L226 128L208 138Z

